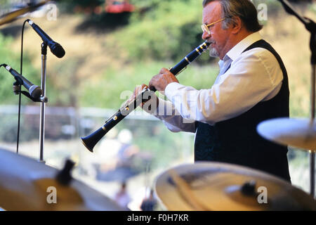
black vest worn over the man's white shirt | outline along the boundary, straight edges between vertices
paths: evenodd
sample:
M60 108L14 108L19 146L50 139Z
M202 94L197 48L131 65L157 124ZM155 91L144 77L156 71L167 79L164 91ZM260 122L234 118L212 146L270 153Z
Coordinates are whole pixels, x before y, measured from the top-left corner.
M254 48L270 51L283 72L282 87L274 98L256 104L246 113L213 126L196 122L195 161L228 162L262 170L290 181L287 147L263 139L256 131L259 122L275 117L289 117L289 82L287 70L275 49L259 40ZM233 96L232 96L233 98Z

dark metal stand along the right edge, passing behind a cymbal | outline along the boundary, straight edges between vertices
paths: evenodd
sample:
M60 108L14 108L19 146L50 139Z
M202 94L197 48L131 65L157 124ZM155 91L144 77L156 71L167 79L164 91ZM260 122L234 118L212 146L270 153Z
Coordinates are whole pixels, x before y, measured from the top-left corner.
M315 120L315 65L316 65L316 24L309 18L303 18L298 15L294 8L289 4L287 0L279 0L287 13L296 16L304 25L306 30L310 32L310 51L312 53L310 57L310 64L312 66L311 75L311 93L310 93L310 124L313 124ZM310 150L310 195L315 196L315 150Z

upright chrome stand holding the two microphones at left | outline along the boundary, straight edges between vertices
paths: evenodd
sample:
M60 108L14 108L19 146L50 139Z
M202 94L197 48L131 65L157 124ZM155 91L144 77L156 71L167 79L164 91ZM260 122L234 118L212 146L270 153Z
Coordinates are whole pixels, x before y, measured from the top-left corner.
M47 59L47 44L41 44L41 90L42 98L46 96L46 59ZM39 124L39 162L44 162L44 137L45 137L45 104L46 101L41 101L41 114Z

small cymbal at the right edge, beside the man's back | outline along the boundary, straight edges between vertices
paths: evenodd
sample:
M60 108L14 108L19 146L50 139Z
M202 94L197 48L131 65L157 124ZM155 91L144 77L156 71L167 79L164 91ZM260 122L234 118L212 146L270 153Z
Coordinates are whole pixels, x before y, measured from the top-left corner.
M279 118L258 124L258 133L276 143L316 150L316 121L308 119Z

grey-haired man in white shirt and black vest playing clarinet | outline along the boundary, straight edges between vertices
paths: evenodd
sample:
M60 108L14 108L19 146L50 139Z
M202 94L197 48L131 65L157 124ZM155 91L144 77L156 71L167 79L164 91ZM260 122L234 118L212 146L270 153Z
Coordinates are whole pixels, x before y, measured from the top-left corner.
M289 117L287 71L258 33L256 8L248 0L204 0L202 20L210 56L220 58L216 82L196 90L162 68L149 83L169 99L157 100L156 116L171 131L196 133L195 161L244 165L290 181L287 147L256 132L259 122ZM162 113L170 108L173 115Z

